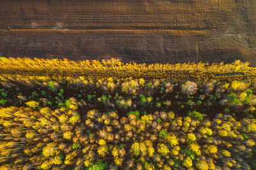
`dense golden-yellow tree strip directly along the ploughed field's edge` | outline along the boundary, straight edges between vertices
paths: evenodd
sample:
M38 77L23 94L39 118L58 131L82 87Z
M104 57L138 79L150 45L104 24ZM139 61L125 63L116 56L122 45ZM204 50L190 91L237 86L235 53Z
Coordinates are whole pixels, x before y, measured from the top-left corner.
M248 62L236 60L231 64L124 64L118 59L72 60L1 58L2 74L20 74L22 76L86 76L86 78L171 78L172 80L255 80L256 69L248 67Z

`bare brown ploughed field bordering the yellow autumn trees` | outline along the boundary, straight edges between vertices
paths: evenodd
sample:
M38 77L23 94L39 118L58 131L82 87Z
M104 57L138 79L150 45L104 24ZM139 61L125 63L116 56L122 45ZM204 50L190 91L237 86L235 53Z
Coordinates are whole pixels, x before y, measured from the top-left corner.
M0 0L0 56L256 66L256 1Z

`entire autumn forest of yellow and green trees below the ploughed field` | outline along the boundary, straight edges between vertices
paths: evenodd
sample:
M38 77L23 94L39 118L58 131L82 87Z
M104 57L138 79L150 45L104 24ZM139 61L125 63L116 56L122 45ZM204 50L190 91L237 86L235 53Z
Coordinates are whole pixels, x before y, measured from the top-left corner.
M256 169L256 68L0 58L0 169Z

